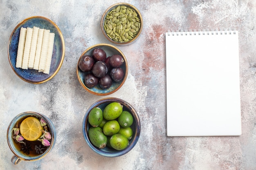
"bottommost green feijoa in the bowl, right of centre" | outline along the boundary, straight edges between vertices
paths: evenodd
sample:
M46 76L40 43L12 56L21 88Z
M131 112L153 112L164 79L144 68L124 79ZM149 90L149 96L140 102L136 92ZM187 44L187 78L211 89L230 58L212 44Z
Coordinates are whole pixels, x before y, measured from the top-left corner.
M110 145L116 150L124 150L129 144L128 139L119 133L110 138Z

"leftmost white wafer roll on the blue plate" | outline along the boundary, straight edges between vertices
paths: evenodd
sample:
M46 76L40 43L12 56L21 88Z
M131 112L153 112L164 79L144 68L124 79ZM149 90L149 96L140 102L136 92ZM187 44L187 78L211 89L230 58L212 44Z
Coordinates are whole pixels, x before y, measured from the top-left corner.
M24 53L24 46L25 46L25 40L26 40L26 33L27 28L20 28L20 38L18 43L18 51L17 51L17 58L16 58L16 67L21 68L22 67L22 59L23 59L23 53Z

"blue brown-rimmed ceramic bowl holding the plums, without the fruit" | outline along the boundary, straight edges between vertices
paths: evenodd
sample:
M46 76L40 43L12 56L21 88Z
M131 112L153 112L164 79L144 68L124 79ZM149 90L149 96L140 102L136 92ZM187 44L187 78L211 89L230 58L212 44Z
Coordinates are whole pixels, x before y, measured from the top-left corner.
M78 63L79 63L80 58L83 55L87 54L87 55L92 56L91 55L92 51L95 48L103 49L106 52L107 57L109 57L111 55L114 55L114 54L118 54L118 55L121 55L124 58L124 64L122 64L122 66L121 66L121 68L124 71L124 79L121 82L112 81L112 86L110 88L107 88L107 89L102 89L99 86L99 84L97 86L94 86L93 88L88 88L87 86L85 86L84 78L87 74L89 74L91 72L90 71L86 71L86 72L81 71L79 66L78 66ZM117 47L115 47L113 45L110 45L110 44L96 44L96 45L90 46L88 49L86 49L82 53L82 55L79 57L79 60L77 62L76 75L77 75L77 78L78 78L79 83L81 84L81 86L83 86L83 88L85 88L85 90L88 91L89 93L92 93L94 95L110 95L110 94L116 92L119 88L121 88L121 86L123 86L124 82L126 81L126 77L128 75L128 63L127 63L126 57L124 56L124 54Z

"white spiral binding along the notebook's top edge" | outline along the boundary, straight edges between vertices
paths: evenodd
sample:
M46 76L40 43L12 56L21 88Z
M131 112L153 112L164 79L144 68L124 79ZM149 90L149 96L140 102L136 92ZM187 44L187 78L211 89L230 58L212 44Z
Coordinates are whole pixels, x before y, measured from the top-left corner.
M209 29L203 29L202 31L200 29L198 29L198 31L196 29L194 29L192 31L192 29L189 29L189 31L187 29L183 30L176 30L176 32L174 30L170 31L168 30L168 36L169 35L227 35L227 34L236 34L236 29L211 29L211 31Z

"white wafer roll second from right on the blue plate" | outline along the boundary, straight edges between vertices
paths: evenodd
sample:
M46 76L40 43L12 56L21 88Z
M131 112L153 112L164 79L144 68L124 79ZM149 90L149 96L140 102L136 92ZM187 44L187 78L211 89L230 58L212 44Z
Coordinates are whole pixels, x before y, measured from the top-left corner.
M45 30L44 35L43 35L43 44L42 44L42 50L41 50L38 70L44 70L45 69L45 62L46 62L47 51L48 51L49 36L50 36L50 30Z

